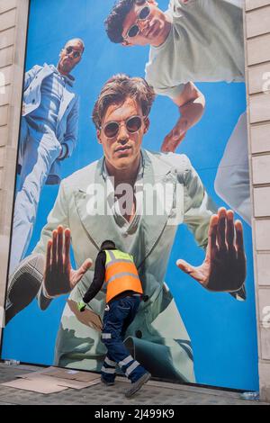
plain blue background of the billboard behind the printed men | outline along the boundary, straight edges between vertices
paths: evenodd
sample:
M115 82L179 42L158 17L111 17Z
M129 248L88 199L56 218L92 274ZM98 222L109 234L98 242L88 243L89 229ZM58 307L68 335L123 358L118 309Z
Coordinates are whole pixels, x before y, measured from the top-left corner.
M73 157L63 166L63 176L88 165L103 154L95 137L91 114L103 83L112 75L144 76L148 48L124 49L112 44L103 21L113 0L31 0L26 70L36 64L58 63L66 41L85 40L85 55L76 67L75 89L81 97L79 139ZM166 10L168 0L160 0ZM179 66L181 64L179 63ZM206 97L206 112L177 149L186 154L218 206L225 205L214 191L213 182L229 136L246 108L244 84L198 84ZM157 97L150 114L151 127L144 148L159 150L173 128L178 112L166 97ZM40 238L40 230L55 202L58 186L45 186L29 253ZM166 284L192 339L197 383L244 390L257 390L257 331L251 230L244 223L247 251L247 302L237 302L226 293L209 293L175 266L177 258L200 265L204 253L193 236L181 226L169 261ZM51 365L61 312L67 297L40 311L37 302L17 315L4 330L2 356L22 362ZM177 324L177 322L175 322Z

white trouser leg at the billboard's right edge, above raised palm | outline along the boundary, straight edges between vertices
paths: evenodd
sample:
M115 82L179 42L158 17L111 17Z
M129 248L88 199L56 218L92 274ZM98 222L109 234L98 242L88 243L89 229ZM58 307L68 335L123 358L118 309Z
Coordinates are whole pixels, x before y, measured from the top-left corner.
M215 179L215 190L241 218L251 224L247 147L247 114L239 117L227 143Z

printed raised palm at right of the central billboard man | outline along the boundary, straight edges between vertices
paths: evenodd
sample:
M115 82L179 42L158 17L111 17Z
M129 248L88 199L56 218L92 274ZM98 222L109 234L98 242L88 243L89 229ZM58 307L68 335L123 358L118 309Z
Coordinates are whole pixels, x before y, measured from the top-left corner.
M242 223L234 222L233 211L222 207L211 216L202 266L194 267L184 260L177 260L176 265L210 291L238 291L246 279L246 255Z

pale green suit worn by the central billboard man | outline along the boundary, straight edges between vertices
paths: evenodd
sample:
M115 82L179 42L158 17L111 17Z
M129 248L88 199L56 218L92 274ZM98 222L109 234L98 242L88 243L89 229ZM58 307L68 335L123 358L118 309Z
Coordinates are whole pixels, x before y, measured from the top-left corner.
M94 259L104 239L113 239L118 248L127 251L127 237L130 237L130 250L127 252L134 257L149 301L140 304L139 312L126 333L125 344L153 376L193 383L190 338L164 280L178 225L187 224L198 245L206 247L209 221L216 208L187 157L146 150L142 150L142 157L143 184L159 184L164 189L170 186L166 192L166 205L154 193L159 206L164 208L163 213L160 213L160 208L153 215L144 213L137 233L128 236L116 225L112 215L93 215L89 210L89 185L105 186L102 158L62 181L58 198L33 252L45 255L48 240L58 225L71 230L76 266L81 266L88 257ZM146 197L147 194L144 195L144 203ZM176 212L178 219L175 223ZM135 236L138 237L137 242L133 242L132 237ZM94 265L70 293L69 299L81 301L93 277ZM45 310L50 301L41 289L40 308ZM88 307L103 317L104 294L98 293ZM58 330L55 364L100 370L105 354L100 332L78 321L67 305Z

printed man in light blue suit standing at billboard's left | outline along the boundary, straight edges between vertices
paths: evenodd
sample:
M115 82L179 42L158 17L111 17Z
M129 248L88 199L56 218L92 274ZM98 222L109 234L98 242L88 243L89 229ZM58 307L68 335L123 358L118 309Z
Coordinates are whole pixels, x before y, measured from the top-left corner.
M43 185L60 183L61 162L76 148L79 101L70 72L84 49L82 40L69 40L57 67L45 63L25 74L10 273L29 246Z

